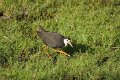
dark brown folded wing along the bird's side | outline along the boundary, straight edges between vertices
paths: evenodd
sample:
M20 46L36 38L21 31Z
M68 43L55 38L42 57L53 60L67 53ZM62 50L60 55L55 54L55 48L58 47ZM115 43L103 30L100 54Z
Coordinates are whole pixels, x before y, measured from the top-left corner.
M60 48L64 46L64 36L55 32L39 32L42 41L49 47Z

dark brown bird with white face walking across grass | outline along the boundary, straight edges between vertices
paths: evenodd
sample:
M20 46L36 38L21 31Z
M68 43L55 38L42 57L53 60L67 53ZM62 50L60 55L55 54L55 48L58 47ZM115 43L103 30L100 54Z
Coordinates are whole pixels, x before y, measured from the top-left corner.
M55 52L65 56L70 56L66 52L59 50L60 48L68 45L73 47L70 39L66 38L60 33L46 31L41 26L37 29L37 34L46 46L52 48Z

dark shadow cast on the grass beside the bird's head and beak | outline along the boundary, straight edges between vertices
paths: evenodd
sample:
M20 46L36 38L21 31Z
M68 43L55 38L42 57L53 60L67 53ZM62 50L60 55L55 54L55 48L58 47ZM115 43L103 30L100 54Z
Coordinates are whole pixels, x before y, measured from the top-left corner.
M92 53L94 51L94 49L91 48L91 46L86 45L86 44L73 43L73 47L67 46L67 47L63 48L63 51L69 53L70 55L73 55L77 52L80 52L80 53L90 52L90 53Z

